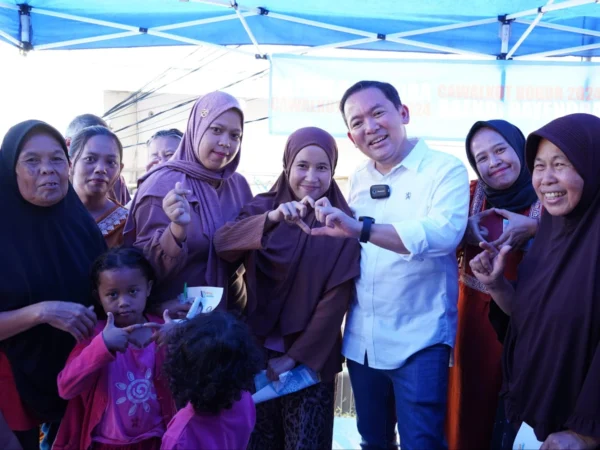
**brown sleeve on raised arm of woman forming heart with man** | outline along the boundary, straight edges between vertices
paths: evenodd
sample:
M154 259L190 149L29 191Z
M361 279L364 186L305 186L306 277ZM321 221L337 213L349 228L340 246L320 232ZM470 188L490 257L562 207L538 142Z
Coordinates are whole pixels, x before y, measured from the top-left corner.
M213 238L217 255L225 261L235 262L248 251L262 249L268 214L267 211L236 222L227 222L219 228Z

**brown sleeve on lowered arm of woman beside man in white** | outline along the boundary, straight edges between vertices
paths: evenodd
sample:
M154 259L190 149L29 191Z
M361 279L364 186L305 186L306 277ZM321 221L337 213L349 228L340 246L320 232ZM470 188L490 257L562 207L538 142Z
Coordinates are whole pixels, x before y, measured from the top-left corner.
M326 292L304 331L287 354L296 361L321 372L323 381L333 379L341 370L341 328L354 293L354 280Z

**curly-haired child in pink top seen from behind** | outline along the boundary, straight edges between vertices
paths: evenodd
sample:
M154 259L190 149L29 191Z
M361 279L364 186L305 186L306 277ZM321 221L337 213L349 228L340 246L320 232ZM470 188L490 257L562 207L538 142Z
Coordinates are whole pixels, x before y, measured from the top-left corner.
M161 450L246 449L256 422L250 395L262 354L248 327L215 311L167 337L164 371L178 405Z

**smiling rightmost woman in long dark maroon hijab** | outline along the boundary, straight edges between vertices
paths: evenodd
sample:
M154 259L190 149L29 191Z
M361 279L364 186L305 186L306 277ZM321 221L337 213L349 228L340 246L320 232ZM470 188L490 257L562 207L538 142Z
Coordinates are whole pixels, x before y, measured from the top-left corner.
M471 261L510 315L507 417L532 427L542 449L600 445L599 148L600 118L589 114L532 133L526 161L544 213L516 286L502 275L510 247L482 244L485 251Z

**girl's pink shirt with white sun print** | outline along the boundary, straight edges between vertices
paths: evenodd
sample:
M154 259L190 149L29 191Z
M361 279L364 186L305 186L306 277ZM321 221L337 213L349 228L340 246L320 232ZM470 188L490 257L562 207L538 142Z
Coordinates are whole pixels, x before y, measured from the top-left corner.
M104 444L134 444L165 432L154 389L156 344L129 346L108 367L108 406L92 433Z

